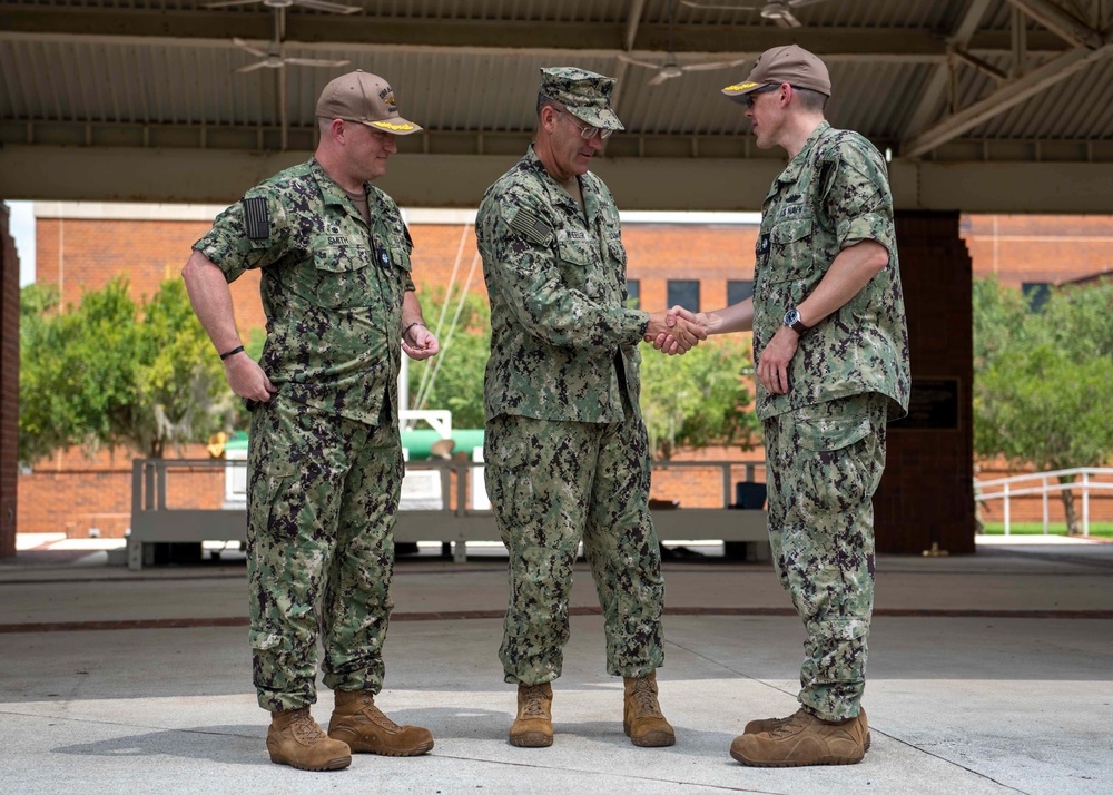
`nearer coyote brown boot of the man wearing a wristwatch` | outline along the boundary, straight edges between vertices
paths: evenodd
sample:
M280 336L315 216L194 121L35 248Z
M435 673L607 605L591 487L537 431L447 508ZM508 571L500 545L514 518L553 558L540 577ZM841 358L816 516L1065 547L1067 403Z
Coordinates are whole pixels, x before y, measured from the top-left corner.
M769 732L736 737L730 755L754 767L854 765L866 754L868 735L865 713L846 720L821 720L800 709Z

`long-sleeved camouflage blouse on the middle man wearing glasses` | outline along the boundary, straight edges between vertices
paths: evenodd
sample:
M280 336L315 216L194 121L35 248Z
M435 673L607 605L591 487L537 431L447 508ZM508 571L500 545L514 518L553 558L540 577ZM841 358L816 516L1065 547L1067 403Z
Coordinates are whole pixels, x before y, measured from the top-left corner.
M584 212L531 147L483 197L475 235L491 298L487 419L618 422L623 382L638 411L638 343L626 248L603 181L580 177Z

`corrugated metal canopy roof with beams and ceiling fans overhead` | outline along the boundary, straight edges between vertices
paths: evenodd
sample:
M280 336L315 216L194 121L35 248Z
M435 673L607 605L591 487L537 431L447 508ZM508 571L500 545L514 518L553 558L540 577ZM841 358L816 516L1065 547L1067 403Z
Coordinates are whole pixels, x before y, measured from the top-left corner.
M719 89L797 42L830 68L831 122L890 149L895 183L909 175L900 204L943 206L945 188L965 186L968 209L1113 209L1113 0L343 2L355 13L322 0L0 0L0 195L234 198L249 175L313 149L321 89L362 68L426 130L398 139L407 165L392 171L417 169L407 181L420 186L404 198L474 203L485 183L446 185L445 167L498 176L531 137L538 69L567 63L619 78L627 130L597 170L634 206L743 208L716 175L766 180L780 153L752 146ZM786 10L799 27L772 19ZM235 38L351 65L237 71L260 57ZM632 62L663 65L670 49L679 77ZM198 178L206 169L227 179ZM660 187L686 174L705 189Z

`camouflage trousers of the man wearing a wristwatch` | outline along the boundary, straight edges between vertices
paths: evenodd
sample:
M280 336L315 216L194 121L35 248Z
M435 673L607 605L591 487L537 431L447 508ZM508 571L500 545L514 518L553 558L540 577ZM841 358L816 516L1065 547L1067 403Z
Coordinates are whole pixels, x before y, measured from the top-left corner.
M774 567L807 630L799 699L827 720L856 716L866 683L887 400L853 395L765 421Z

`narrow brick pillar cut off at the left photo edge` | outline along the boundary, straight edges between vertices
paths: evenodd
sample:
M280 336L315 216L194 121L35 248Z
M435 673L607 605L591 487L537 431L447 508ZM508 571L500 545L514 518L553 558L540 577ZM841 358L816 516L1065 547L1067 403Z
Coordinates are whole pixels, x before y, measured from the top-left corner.
M0 558L16 556L19 457L19 257L0 203Z

